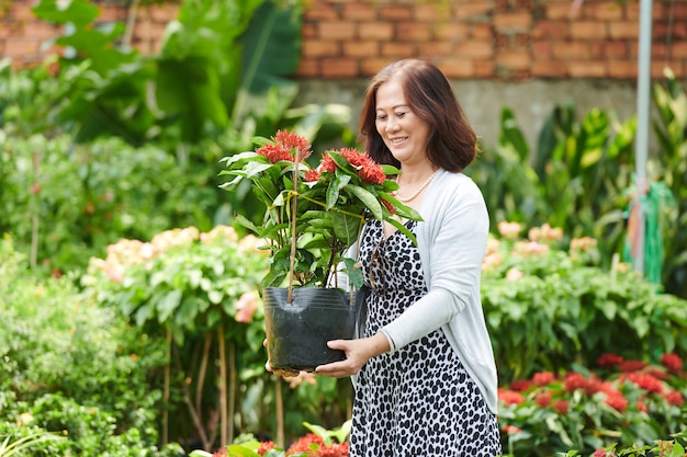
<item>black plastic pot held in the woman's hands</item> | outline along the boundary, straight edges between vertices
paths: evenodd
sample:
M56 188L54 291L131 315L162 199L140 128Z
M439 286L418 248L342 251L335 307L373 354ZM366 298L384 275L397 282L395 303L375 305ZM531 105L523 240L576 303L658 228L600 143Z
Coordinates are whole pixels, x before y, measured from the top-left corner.
M267 350L277 369L313 372L316 366L346 358L342 351L327 347L330 340L351 340L356 312L350 295L336 288L263 290Z

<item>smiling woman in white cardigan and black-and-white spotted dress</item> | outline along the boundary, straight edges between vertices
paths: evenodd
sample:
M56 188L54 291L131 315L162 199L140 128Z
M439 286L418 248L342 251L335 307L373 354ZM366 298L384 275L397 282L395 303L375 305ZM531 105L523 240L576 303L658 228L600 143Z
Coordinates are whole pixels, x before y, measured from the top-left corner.
M374 220L359 261L368 318L357 340L337 340L346 359L316 368L357 375L351 457L497 456L496 366L480 297L488 215L462 171L476 136L444 75L401 60L373 78L361 134L367 152L399 168L396 198L423 221L403 232Z

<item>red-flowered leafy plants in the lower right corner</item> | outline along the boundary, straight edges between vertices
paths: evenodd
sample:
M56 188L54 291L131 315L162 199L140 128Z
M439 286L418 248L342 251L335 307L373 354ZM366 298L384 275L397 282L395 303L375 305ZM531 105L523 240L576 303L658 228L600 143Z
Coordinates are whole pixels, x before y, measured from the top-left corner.
M594 366L539 372L502 387L504 453L606 456L601 447L639 448L684 427L687 375L679 356L663 354L650 365L607 353Z

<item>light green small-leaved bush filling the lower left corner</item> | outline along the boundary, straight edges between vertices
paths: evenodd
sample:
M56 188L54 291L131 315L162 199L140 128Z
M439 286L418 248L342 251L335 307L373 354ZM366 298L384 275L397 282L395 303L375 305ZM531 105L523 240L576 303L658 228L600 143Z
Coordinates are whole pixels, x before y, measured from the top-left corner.
M179 456L179 446L157 444L161 389L151 380L165 364L164 340L97 307L67 278L36 279L8 237L0 290L4 452L31 443L36 457Z

